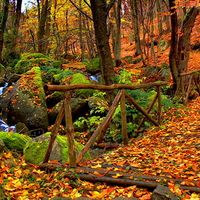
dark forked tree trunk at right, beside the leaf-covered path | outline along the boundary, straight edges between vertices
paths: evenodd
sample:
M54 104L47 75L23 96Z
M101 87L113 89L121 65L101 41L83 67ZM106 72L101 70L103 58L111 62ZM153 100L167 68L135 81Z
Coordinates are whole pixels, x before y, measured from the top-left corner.
M177 85L179 83L179 75L188 69L188 61L190 54L190 35L196 16L199 13L198 8L191 8L184 16L181 34L178 35L178 17L175 8L175 1L169 0L171 13L171 49L169 53L169 65L173 78L173 90L179 93Z

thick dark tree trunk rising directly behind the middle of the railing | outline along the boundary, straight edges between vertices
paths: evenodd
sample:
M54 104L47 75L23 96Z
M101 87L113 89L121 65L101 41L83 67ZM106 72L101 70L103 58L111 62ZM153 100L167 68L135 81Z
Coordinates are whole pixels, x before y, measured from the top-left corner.
M107 32L107 5L105 0L90 0L95 37L97 43L97 49L99 52L100 66L103 82L106 85L113 84L113 78L115 76L114 63L111 57L111 50L109 45L109 38ZM111 103L114 99L113 92L107 93L108 102Z

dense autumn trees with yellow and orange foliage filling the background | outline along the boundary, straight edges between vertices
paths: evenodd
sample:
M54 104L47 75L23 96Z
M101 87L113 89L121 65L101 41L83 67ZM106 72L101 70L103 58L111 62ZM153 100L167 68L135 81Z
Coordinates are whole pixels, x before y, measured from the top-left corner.
M155 43L169 39L171 33L169 65L175 87L179 73L187 71L198 2L37 0L23 13L21 2L1 1L0 53L4 45L4 58L5 52L12 51L37 51L58 59L79 57L81 61L99 56L104 82L109 85L116 65L113 58L120 64L121 37L134 42L132 56L140 56L148 66L150 54L157 65Z

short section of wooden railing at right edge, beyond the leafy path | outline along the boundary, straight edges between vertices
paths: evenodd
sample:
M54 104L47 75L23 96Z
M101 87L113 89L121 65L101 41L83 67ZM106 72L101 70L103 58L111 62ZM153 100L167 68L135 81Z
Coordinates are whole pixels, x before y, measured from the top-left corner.
M187 104L190 92L195 87L200 95L200 70L181 73L175 96L179 95L183 104Z

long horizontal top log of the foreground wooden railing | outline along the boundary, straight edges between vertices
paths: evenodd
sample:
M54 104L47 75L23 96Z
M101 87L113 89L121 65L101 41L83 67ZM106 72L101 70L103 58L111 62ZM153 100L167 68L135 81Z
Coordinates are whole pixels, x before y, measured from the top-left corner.
M77 89L95 89L95 90L114 90L114 89L142 89L152 86L164 86L167 85L166 81L159 81L153 83L145 83L139 85L125 85L125 84L112 84L112 85L100 85L100 84L69 84L69 85L45 85L44 89L48 91L68 91Z

